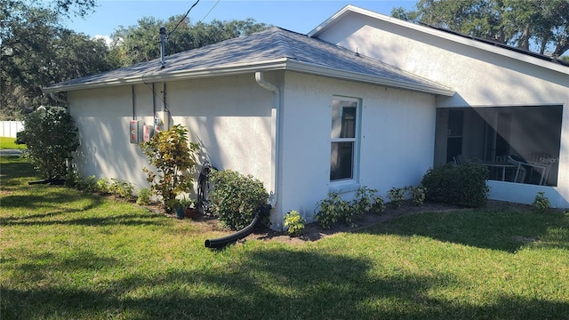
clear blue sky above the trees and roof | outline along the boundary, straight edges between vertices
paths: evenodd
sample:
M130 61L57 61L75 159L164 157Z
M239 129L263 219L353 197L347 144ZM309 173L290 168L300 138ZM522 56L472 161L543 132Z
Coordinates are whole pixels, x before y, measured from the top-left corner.
M88 36L110 36L119 26L136 25L137 20L145 16L167 20L173 15L184 14L195 2L196 0L97 0L95 12L84 19L69 20L67 28ZM347 4L389 15L395 7L411 9L416 3L415 0L200 0L188 17L193 22L252 18L257 22L307 34Z

